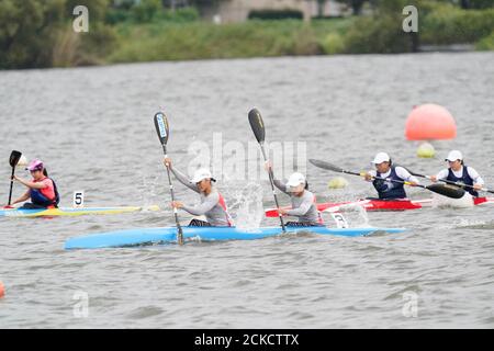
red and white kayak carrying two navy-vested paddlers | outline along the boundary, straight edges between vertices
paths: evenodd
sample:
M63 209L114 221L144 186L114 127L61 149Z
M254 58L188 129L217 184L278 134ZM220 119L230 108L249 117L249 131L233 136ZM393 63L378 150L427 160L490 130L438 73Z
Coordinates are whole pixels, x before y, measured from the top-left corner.
M482 204L493 204L494 197L475 197L473 199L474 205ZM317 210L323 212L328 208L334 208L338 211L344 207L351 206L363 206L366 211L408 211L408 210L419 210L424 206L430 206L433 204L433 200L379 200L379 199L367 199L359 200L357 202L340 202L340 203L321 203L317 204ZM283 207L283 210L289 210L290 207ZM278 211L276 208L269 208L266 211L267 217L278 217Z

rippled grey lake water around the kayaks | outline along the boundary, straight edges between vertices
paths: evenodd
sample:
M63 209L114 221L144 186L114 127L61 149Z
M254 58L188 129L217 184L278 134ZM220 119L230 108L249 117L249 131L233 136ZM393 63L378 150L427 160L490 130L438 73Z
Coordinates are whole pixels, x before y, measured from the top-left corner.
M267 140L285 148L282 176L292 171L292 158L299 160L319 202L374 193L351 176L348 189L329 190L336 174L304 160L359 171L382 150L417 172L435 173L458 148L494 186L493 77L494 53L1 71L0 203L8 197L8 158L18 149L45 160L61 205L71 206L72 192L83 190L87 206L165 210L0 218L0 281L7 291L0 327L493 328L494 206L347 214L350 225L409 229L400 235L63 249L72 236L173 225L153 125L158 110L168 115L169 155L178 168L193 168L204 150L223 162L214 166L217 185L244 226L277 225L276 218L259 224L262 206L273 205L266 179L244 177L261 163L249 151L258 150L247 122L252 106L263 115ZM436 158L418 159L418 144L405 140L404 125L414 105L428 102L448 107L458 137L435 141ZM15 184L14 196L23 191ZM187 203L198 201L180 184L176 191ZM414 189L409 196L430 194ZM289 203L284 195L280 201ZM81 296L88 297L86 317L79 314Z

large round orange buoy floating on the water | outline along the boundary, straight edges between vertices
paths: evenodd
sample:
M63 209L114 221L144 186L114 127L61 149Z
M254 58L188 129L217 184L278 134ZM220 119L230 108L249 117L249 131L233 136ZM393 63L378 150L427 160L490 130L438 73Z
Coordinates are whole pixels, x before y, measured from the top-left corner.
M433 103L415 106L406 118L405 136L408 140L453 139L457 123L442 106Z

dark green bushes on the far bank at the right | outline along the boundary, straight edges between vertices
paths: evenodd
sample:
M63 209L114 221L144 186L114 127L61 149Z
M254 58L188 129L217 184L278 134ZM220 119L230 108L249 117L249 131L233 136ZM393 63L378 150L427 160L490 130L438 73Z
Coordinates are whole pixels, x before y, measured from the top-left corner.
M402 30L402 9L418 9L422 44L475 43L494 31L494 9L462 10L448 1L379 0L372 16L360 16L345 36L347 53L407 53L413 35Z

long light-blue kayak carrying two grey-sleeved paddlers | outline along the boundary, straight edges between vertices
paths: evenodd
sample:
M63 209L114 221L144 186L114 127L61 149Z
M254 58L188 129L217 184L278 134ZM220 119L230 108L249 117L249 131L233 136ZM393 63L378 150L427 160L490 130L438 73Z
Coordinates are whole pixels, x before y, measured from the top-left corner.
M274 237L282 234L280 227L267 227L251 231L236 227L182 227L186 241L216 240L255 240ZM347 237L364 236L372 233L402 233L404 228L327 228L327 227L287 227L287 231L314 233ZM65 242L65 249L99 249L128 247L141 245L170 244L177 241L176 227L128 229L110 233L92 234L70 238Z

